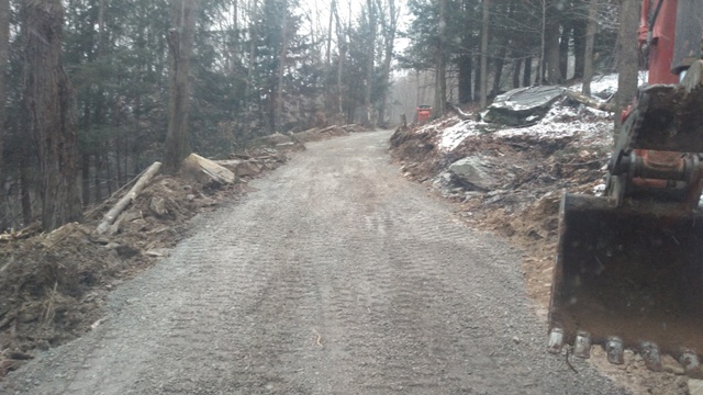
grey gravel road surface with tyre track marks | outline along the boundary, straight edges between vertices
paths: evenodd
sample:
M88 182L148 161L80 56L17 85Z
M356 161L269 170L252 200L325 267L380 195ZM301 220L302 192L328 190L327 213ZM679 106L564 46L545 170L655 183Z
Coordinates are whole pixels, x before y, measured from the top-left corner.
M625 393L545 352L520 256L403 179L389 137L309 144L0 393Z

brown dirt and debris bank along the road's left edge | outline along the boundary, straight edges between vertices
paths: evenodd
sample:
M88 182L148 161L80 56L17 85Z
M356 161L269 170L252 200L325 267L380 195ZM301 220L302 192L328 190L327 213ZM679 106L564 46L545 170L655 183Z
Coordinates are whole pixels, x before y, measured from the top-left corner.
M259 151L266 155L256 156ZM271 149L246 156L260 163L259 172L286 161ZM97 235L96 226L124 191L88 212L82 224L48 234L40 234L35 225L2 235L0 377L31 359L33 349L64 343L100 325L108 292L167 256L187 235L189 218L245 193L246 179L203 185L157 176L104 235Z

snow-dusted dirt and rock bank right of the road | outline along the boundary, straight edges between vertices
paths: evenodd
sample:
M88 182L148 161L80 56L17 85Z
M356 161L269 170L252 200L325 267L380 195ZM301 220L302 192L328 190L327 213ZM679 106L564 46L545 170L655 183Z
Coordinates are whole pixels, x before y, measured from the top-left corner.
M611 149L612 129L603 116L568 109L553 110L546 122L533 127L512 129L449 116L399 128L391 139L391 154L406 178L458 203L457 214L472 227L499 234L524 251L527 292L545 321L562 191L601 191ZM453 173L450 165L465 158L481 165L481 171L490 170L495 187L476 189ZM599 369L633 392L688 393L690 381L677 376L683 369L673 360L667 372L674 374L663 374L647 371L641 358L629 351L626 363L618 366L599 358L600 349L593 353L591 361Z

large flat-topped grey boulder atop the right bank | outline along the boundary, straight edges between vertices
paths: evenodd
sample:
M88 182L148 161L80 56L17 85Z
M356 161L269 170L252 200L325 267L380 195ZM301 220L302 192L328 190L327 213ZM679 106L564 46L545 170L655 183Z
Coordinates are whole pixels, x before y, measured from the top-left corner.
M523 126L542 120L551 105L563 97L563 87L517 88L495 98L483 121L507 126Z

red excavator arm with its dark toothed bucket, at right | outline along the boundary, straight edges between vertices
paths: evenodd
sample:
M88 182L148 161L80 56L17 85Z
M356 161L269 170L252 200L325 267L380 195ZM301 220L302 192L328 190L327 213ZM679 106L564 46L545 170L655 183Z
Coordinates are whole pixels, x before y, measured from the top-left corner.
M703 377L703 1L643 0L648 82L623 113L602 196L563 193L548 351L662 356Z

